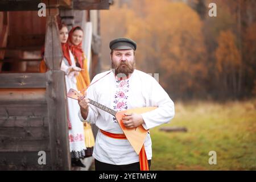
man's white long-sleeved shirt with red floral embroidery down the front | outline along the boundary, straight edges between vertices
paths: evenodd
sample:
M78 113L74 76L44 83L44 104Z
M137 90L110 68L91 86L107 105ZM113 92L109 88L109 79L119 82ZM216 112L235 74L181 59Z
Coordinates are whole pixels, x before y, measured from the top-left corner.
M96 75L92 83L105 76L107 72ZM89 86L87 97L115 111L133 109L136 107L158 106L157 109L143 113L144 129L168 123L174 117L174 102L164 91L154 77L138 71L137 69L126 80L118 80L111 72L95 84ZM89 113L86 120L109 133L122 134L122 129L117 120L97 107L89 104ZM152 157L151 138L148 133L144 142L147 159ZM100 162L125 165L139 162L139 156L134 151L127 139L114 139L102 134L99 130L93 157Z

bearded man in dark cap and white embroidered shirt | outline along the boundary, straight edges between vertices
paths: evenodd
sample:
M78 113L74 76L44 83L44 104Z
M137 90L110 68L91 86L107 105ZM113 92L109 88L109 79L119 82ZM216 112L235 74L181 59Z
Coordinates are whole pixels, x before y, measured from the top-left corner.
M114 39L109 47L112 70L96 75L84 96L79 97L79 117L99 128L93 150L96 170L146 171L152 158L150 133L144 140L146 154L142 159L126 139L117 119L89 104L88 98L115 111L157 106L155 110L143 114L127 113L122 118L125 127L133 129L142 125L145 130L174 118L174 102L154 77L135 69L137 44L133 40Z

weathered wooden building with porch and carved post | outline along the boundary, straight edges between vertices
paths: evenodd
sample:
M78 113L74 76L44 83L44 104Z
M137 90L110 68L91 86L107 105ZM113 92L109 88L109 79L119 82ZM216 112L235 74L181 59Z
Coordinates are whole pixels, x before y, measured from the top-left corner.
M98 10L109 9L110 3L0 1L0 170L71 170L67 92L60 71L63 54L56 17L69 30L77 25L84 29L83 49L93 77L99 71ZM39 16L39 4L46 5L46 16ZM39 73L43 46L47 73ZM44 152L46 164L41 164Z

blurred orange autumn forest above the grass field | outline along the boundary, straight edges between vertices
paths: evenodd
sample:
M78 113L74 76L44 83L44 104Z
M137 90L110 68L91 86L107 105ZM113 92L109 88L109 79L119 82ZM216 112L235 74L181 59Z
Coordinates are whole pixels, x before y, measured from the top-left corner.
M210 17L209 3L217 16ZM256 95L256 1L115 0L101 11L102 69L110 40L137 42L137 69L159 73L174 100L233 100Z

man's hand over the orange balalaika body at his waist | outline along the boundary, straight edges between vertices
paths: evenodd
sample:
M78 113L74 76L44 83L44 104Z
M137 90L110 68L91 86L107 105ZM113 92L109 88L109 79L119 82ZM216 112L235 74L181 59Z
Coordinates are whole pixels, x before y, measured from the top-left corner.
M134 127L138 127L142 123L144 123L144 120L142 118L141 114L136 114L136 113L127 113L125 114L125 117L122 118L123 120L123 125L125 127L132 129Z

